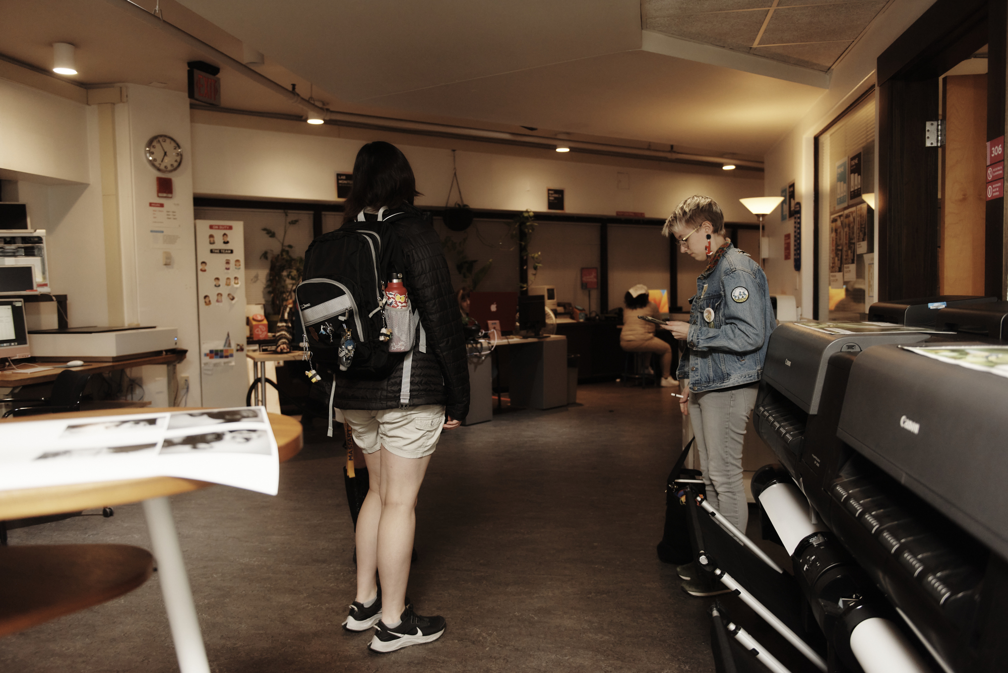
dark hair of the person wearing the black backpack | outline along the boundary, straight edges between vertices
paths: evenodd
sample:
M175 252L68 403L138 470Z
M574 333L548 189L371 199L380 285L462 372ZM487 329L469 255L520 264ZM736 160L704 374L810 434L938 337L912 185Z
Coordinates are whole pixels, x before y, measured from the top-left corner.
M369 142L354 160L354 184L343 205L343 222L356 220L364 209L413 204L416 178L398 147L382 140Z

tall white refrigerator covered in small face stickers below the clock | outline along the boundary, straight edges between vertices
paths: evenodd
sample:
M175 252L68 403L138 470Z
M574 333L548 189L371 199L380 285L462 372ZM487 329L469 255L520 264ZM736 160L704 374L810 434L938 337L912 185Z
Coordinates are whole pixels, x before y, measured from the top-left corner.
M203 406L245 404L244 223L196 221ZM196 354L188 354L192 358Z

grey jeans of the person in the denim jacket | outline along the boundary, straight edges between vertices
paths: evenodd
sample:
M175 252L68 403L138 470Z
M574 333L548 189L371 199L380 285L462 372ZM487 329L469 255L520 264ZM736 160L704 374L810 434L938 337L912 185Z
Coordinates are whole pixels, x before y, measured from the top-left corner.
M689 418L707 500L743 533L749 522L742 483L742 438L759 384L689 393Z

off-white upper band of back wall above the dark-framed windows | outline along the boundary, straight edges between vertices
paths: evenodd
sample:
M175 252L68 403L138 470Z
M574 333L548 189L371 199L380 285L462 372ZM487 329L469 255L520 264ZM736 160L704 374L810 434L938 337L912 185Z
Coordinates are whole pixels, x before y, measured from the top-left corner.
M350 172L362 140L262 129L193 124L194 189L198 194L286 200L335 200L336 173ZM452 181L452 151L401 144L423 192L418 205L444 206ZM721 204L728 220L751 222L738 203L759 195L759 173L711 176L560 159L474 151L457 152L466 203L476 209L546 211L546 188L565 189L568 213L615 215L617 211L666 218L682 198L705 193ZM617 186L629 175L629 188ZM458 198L453 191L452 203Z

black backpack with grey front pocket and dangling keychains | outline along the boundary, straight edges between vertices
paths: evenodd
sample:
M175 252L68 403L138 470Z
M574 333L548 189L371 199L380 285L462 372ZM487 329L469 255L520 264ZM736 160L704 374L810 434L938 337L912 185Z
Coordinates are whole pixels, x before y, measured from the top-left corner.
M356 222L311 242L303 280L294 289L303 341L313 369L356 379L387 379L404 353L389 353L384 338L385 283L405 266L392 223L405 208L377 221ZM342 362L341 362L342 351Z

